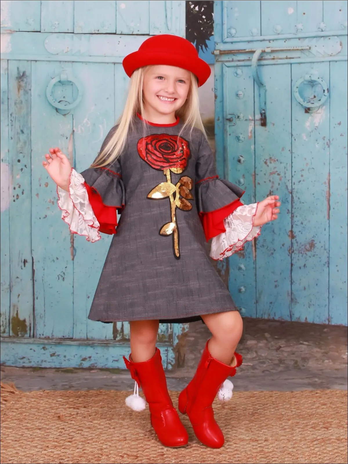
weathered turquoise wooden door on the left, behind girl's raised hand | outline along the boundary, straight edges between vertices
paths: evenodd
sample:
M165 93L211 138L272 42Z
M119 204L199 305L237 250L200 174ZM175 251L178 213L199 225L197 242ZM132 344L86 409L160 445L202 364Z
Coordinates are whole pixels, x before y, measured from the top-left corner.
M122 58L148 35L185 34L182 1L1 2L1 362L124 367L129 324L87 319L110 236L60 219L41 166L59 146L82 171L122 111ZM187 325L162 324L165 367ZM177 351L177 350L176 350Z

